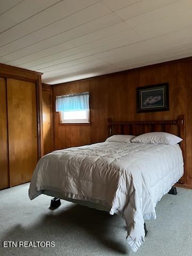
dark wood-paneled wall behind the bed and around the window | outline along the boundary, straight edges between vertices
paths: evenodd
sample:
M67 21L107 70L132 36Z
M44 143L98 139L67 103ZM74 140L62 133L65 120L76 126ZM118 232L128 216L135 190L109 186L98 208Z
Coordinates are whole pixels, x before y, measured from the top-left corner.
M137 113L139 86L169 83L170 110ZM90 92L90 125L59 124L56 95ZM100 142L107 137L107 118L114 121L175 119L186 115L185 182L192 185L192 59L182 59L53 86L54 149Z

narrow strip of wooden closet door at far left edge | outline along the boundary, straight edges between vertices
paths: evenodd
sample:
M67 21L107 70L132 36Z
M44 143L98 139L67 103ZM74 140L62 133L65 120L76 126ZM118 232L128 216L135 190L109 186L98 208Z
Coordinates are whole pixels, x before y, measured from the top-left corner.
M7 143L6 82L0 78L0 189L9 187Z

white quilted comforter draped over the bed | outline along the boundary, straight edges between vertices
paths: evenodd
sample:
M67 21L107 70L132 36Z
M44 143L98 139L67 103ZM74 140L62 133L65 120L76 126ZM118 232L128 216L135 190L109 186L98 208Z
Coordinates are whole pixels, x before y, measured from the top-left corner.
M182 174L179 145L103 142L42 157L29 197L49 189L105 206L125 219L127 242L135 252L145 239L144 220L156 218L157 202Z

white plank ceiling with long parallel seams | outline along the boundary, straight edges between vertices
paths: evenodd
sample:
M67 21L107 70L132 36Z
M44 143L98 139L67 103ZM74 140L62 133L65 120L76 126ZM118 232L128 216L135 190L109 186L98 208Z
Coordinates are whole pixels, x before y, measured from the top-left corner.
M192 0L0 0L0 62L48 84L192 55Z

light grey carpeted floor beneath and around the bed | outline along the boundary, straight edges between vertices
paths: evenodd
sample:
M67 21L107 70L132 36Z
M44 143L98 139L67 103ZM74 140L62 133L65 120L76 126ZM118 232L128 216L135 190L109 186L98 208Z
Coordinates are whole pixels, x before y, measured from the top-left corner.
M192 190L178 188L177 196L161 199L157 219L146 222L145 243L133 253L121 217L66 201L52 211L51 197L30 201L28 187L0 191L0 255L192 255ZM3 248L3 241L54 241L55 247Z

